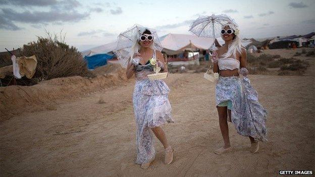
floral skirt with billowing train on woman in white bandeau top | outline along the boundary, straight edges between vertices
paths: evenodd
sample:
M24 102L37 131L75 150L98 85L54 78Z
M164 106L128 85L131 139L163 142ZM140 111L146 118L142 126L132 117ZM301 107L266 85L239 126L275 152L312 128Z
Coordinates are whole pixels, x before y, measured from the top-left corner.
M247 77L219 77L216 85L216 105L232 102L231 117L238 134L267 141L267 111L258 102L258 94Z

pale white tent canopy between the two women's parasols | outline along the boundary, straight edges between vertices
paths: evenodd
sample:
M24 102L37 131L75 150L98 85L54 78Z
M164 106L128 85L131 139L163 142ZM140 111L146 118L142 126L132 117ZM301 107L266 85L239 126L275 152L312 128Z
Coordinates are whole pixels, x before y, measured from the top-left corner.
M182 53L185 49L208 49L213 43L213 38L198 37L189 34L169 33L161 37L163 51L169 55Z

